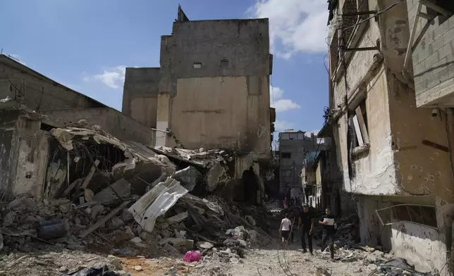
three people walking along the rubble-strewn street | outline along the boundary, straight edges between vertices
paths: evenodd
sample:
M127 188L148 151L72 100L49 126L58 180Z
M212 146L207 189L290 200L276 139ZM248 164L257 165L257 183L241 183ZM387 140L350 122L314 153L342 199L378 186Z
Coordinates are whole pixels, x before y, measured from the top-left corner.
M312 234L314 230L314 215L309 211L309 206L305 204L303 210L297 212L295 209L292 213L286 213L286 218L283 218L281 221L281 226L279 227L279 232L281 232L283 246L290 242L293 242L293 227L295 221L297 221L297 230L302 230L301 234L301 247L303 253L307 253L307 245L309 246L309 253L314 254L312 247ZM323 236L321 239L321 247L325 249L329 245L329 250L331 252L331 259L334 258L334 241L333 236L335 233L334 228L334 216L331 215L331 208L327 207L325 209L324 215L321 215L319 218L319 224L323 227Z

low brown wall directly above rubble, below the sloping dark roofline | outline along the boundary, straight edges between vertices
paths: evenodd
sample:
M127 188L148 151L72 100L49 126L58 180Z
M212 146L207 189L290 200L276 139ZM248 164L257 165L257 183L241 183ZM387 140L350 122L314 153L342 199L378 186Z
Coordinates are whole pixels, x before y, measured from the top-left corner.
M51 118L58 118L65 123L77 123L87 120L89 125L99 125L116 137L149 145L152 139L152 130L142 123L129 118L114 108L87 108L81 110L63 109L39 111Z

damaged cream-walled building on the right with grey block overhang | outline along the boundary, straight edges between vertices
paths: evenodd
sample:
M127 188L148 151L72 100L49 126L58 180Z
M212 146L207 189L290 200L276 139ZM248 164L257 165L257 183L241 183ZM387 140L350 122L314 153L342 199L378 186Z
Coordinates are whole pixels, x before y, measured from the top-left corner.
M320 134L336 143L362 242L447 275L453 120L440 108L451 106L454 36L451 1L441 2L329 1L330 109Z

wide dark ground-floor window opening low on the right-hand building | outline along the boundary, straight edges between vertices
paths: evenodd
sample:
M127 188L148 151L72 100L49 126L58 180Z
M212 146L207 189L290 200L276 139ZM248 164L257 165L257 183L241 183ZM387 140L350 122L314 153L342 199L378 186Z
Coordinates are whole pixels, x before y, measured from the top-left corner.
M383 225L407 221L438 228L434 206L395 203L391 207L376 210L376 214Z

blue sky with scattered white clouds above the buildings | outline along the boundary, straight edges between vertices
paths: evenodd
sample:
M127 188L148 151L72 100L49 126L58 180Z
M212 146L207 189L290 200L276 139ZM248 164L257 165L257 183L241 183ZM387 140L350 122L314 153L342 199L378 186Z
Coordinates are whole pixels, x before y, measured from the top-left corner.
M269 18L277 131L314 132L328 104L326 0L15 0L1 5L0 48L121 111L126 67L159 67L180 4L190 20Z

